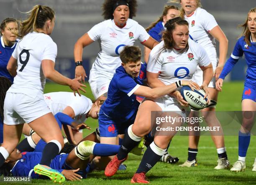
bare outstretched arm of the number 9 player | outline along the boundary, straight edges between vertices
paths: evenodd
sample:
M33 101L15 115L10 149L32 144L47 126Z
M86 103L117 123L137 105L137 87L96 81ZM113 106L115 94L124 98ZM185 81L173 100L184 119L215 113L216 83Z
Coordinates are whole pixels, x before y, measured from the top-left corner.
M82 87L86 87L86 85L78 82L79 80L81 80L81 77L74 78L73 80L71 80L70 78L63 76L58 71L54 70L54 64L55 63L51 60L42 60L42 69L44 72L44 76L46 78L61 85L68 85L74 91L74 95L75 95L75 92L77 91L79 96L81 96L79 90L86 92L82 88Z

